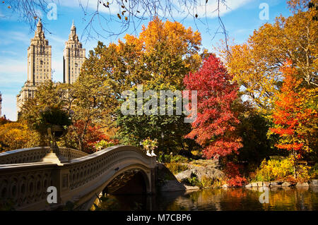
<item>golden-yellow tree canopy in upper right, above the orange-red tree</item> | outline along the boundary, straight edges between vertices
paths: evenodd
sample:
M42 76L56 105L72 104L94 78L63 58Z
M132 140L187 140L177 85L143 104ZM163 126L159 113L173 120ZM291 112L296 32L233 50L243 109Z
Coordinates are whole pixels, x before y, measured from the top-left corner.
M281 87L279 68L285 59L293 61L299 78L310 88L316 87L318 69L318 20L316 7L310 1L288 1L293 15L265 23L246 43L223 50L228 71L233 80L244 87L244 94L263 114L270 114L273 96ZM317 6L317 1L311 1Z

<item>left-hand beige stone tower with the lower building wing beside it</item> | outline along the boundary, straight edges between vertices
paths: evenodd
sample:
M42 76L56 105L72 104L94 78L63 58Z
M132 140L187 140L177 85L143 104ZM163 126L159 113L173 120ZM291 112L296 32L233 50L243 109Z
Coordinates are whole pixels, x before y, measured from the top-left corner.
M18 115L24 102L35 96L41 83L52 80L52 51L49 41L45 39L41 19L37 22L37 30L28 47L28 80L17 95Z

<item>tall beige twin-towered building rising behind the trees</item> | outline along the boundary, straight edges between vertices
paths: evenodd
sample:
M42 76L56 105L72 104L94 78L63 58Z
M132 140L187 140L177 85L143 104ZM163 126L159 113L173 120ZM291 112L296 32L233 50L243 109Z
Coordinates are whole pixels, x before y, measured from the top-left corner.
M71 26L69 40L65 42L63 53L63 82L74 83L86 59L86 52L76 35L74 23ZM17 95L18 114L26 100L35 96L37 87L47 80L52 80L52 47L45 39L41 20L28 47L28 80Z

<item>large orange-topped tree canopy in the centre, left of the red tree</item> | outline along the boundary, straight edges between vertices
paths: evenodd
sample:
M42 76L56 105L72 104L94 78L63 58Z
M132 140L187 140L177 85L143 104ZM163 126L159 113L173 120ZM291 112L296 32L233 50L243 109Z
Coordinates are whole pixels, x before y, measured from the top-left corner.
M175 33L179 34L180 41L174 41ZM86 80L91 82L92 85L83 88L83 91L90 91L94 86L92 80L95 80L95 87L101 87L99 91L105 98L111 119L124 90L141 84L154 87L160 82L180 88L184 74L198 68L201 61L200 34L177 22L163 23L155 18L143 28L139 37L126 35L124 39L125 42L119 40L118 44L108 46L98 42L83 63L76 82L79 86Z

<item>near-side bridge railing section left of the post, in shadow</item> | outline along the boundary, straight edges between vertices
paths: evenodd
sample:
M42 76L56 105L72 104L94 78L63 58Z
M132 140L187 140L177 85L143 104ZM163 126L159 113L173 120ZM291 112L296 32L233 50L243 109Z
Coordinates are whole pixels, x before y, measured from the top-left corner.
M47 188L57 180L57 164L0 165L0 205L3 209L47 204Z

